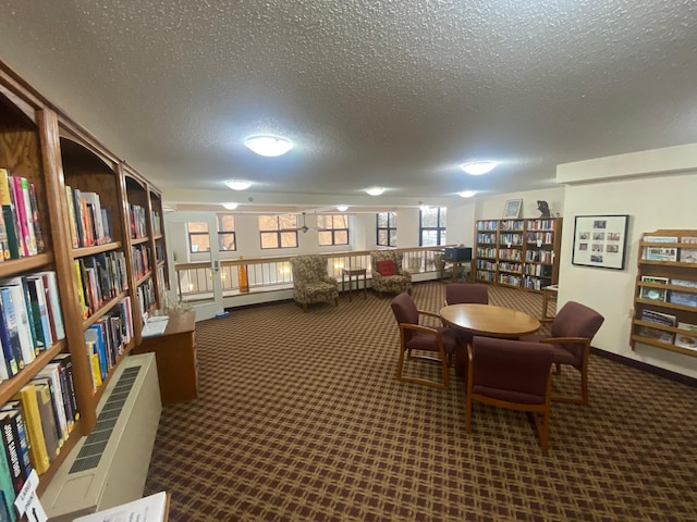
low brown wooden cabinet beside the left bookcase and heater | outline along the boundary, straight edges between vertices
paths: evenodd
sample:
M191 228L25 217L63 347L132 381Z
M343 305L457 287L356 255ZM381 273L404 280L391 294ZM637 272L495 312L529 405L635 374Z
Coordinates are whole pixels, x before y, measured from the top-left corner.
M133 352L155 352L162 405L185 402L198 397L196 312L171 314L164 333L144 337Z

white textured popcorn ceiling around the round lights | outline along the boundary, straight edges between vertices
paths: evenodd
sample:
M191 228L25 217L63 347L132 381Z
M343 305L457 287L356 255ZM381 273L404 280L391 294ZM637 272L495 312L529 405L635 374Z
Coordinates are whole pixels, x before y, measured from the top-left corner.
M694 0L0 5L0 59L166 192L509 192L697 141ZM255 157L259 133L295 148Z

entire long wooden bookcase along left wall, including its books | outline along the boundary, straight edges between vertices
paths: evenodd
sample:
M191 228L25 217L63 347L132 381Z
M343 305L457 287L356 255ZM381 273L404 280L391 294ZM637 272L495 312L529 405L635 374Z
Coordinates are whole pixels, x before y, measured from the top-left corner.
M32 470L39 495L50 484L135 347L126 170L0 62L0 511ZM143 257L164 269L159 191L142 186L158 198L143 228L160 245L146 232Z

